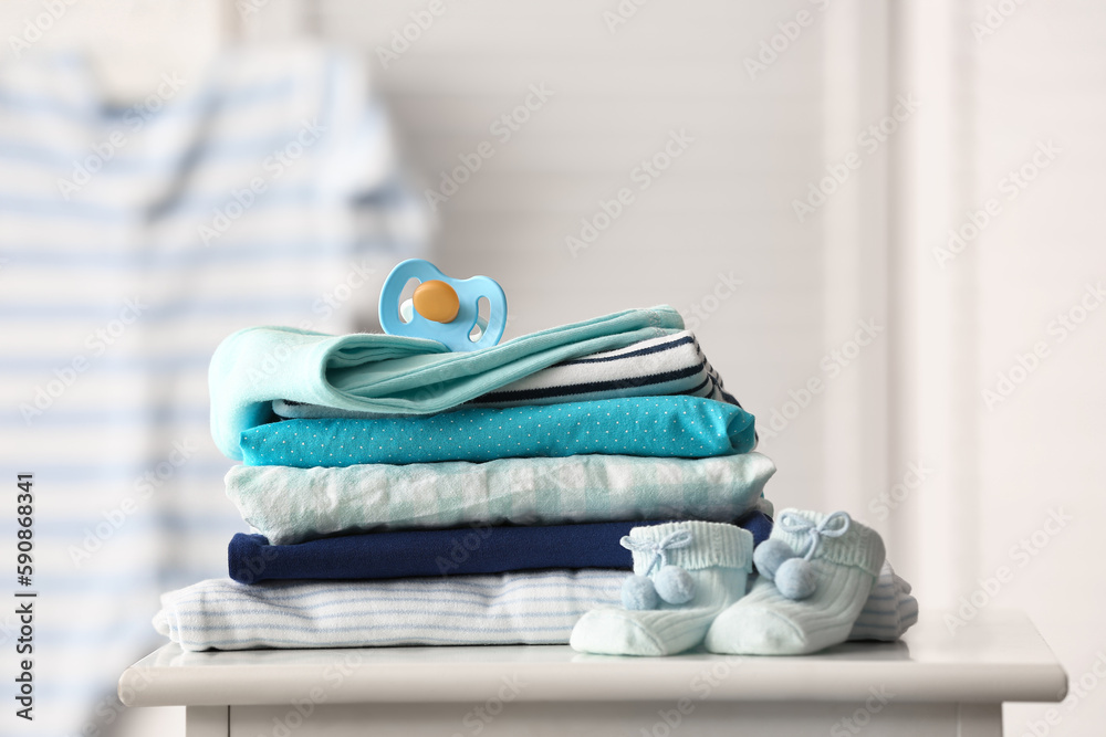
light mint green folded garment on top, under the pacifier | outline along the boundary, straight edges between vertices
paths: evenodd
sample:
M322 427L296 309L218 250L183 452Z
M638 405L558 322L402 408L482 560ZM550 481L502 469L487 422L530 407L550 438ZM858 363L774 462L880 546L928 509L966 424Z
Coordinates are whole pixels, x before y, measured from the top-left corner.
M460 354L436 340L396 335L247 328L219 344L211 357L211 435L219 450L241 460L242 431L274 420L273 400L431 414L554 364L682 328L671 307L629 309Z

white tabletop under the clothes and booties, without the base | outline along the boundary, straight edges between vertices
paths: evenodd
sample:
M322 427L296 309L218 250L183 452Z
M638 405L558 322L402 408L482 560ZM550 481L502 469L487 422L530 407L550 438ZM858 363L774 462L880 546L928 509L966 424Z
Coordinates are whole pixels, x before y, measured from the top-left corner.
M1067 676L1020 612L981 612L954 633L943 615L894 643L845 643L802 657L692 652L585 655L563 645L185 652L167 644L124 672L128 706L478 702L504 684L534 702L651 701L709 688L722 701L1055 702Z

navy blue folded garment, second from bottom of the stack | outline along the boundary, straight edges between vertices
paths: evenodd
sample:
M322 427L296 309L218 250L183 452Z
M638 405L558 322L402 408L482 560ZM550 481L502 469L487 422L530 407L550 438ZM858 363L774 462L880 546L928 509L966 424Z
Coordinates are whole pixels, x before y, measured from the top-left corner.
M239 583L275 579L386 579L505 573L543 568L634 567L618 541L629 530L658 522L605 522L536 527L367 533L269 545L262 535L239 533L230 541L230 577ZM739 522L759 545L772 522L759 512Z

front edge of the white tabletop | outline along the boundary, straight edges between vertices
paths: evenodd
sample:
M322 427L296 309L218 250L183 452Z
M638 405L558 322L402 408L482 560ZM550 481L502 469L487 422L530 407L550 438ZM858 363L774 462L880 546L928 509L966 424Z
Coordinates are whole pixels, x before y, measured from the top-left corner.
M664 702L687 697L722 702L864 702L874 693L894 694L901 703L1060 702L1067 693L1067 674L1058 663L842 663L812 662L796 678L793 663L759 662L753 675L726 661L678 662L665 671L636 666L636 659L587 663L524 662L468 664L463 681L442 671L428 674L425 664L392 664L386 676L356 671L337 677L328 666L299 666L293 681L276 670L226 666L218 683L159 668L156 677L142 662L119 678L119 698L127 706L279 705L310 698L316 703L482 703L513 680L517 702ZM581 677L581 668L601 673ZM267 675L269 677L267 677ZM505 681L504 681L505 680ZM337 684L332 682L338 681ZM228 687L230 684L231 687ZM323 685L327 688L323 688Z

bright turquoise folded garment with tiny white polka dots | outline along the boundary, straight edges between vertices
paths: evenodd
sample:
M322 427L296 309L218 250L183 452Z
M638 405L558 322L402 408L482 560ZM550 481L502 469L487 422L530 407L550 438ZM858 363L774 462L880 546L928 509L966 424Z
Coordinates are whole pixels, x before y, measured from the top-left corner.
M242 432L246 465L298 468L585 453L698 459L747 453L753 415L700 397L468 409L430 417L285 420Z

